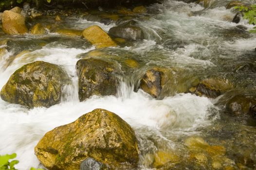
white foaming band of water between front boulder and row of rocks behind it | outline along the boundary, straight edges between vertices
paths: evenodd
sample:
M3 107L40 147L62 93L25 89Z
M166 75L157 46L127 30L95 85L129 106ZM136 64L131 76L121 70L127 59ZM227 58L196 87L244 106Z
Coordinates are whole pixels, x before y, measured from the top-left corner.
M210 124L207 119L213 104L203 97L179 94L164 100L154 100L142 91L130 98L93 96L85 102L62 102L50 108L26 108L0 102L0 154L18 154L17 168L37 167L34 155L38 140L57 126L70 123L95 108L104 108L118 114L133 128L148 127L157 131L193 132Z

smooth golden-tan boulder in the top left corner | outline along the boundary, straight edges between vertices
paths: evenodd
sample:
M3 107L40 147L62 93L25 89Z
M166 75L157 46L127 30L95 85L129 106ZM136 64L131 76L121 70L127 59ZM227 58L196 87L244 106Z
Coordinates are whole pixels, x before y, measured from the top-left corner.
M2 30L6 34L27 33L25 17L12 11L4 11L2 14Z

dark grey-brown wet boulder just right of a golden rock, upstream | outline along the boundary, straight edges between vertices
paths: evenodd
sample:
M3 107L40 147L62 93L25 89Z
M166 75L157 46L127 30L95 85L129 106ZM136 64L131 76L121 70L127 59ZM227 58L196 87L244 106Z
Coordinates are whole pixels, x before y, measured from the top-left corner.
M131 20L119 26L112 27L109 30L109 34L113 37L125 38L128 40L144 39L145 35L143 30L140 27L135 26L133 23L134 21Z

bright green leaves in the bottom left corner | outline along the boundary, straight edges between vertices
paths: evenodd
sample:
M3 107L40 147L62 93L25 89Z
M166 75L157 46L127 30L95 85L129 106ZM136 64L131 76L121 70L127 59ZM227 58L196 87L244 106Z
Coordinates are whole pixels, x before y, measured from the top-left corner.
M19 163L18 160L12 160L10 162L10 159L16 158L17 154L6 154L6 155L0 155L0 170L17 170L15 169L15 165ZM44 169L36 169L32 167L30 170L44 170Z

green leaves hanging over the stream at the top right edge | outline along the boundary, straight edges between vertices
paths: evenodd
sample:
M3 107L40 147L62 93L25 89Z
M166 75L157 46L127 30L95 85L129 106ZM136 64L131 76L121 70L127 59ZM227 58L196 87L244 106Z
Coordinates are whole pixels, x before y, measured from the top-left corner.
M256 24L256 5L253 4L250 7L235 6L234 9L238 9L243 13L243 18L249 21L249 24ZM250 33L256 33L256 27L249 31Z

